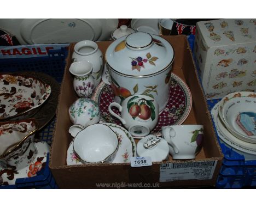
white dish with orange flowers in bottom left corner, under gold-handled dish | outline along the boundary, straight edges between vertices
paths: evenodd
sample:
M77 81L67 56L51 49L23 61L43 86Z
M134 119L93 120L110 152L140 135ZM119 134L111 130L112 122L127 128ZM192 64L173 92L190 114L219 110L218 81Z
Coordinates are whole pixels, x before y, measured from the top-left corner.
M49 145L45 142L35 143L38 150L37 154L32 156L32 162L20 170L15 170L13 167L3 167L0 163L0 187L1 185L14 185L16 179L30 178L36 176L37 172L46 165ZM1 181L2 179L2 181Z

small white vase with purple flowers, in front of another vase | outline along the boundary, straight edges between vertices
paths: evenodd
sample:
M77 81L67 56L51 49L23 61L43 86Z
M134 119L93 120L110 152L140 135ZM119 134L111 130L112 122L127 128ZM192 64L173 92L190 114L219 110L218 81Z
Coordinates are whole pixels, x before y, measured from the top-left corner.
M79 97L91 97L95 91L95 82L92 74L92 64L86 60L73 62L69 72L74 75L73 87Z

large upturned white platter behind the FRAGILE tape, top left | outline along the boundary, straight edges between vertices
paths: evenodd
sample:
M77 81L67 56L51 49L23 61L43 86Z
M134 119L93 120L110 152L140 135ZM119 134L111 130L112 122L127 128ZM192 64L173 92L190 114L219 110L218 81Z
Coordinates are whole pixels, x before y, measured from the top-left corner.
M0 28L20 44L53 44L109 40L118 19L1 19Z

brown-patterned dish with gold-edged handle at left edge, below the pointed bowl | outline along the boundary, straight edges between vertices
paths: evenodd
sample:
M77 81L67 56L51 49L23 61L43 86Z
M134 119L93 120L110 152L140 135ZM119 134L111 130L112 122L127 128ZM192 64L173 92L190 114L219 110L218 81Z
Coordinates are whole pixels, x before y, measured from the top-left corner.
M16 167L26 165L29 157L24 153L33 143L36 131L33 118L0 123L0 160Z

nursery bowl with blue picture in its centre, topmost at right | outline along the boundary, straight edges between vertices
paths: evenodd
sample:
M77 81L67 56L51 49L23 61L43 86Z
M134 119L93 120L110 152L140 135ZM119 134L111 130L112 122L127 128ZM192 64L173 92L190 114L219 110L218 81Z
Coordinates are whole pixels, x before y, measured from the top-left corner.
M219 102L218 114L225 127L237 138L256 143L256 93L239 91Z

